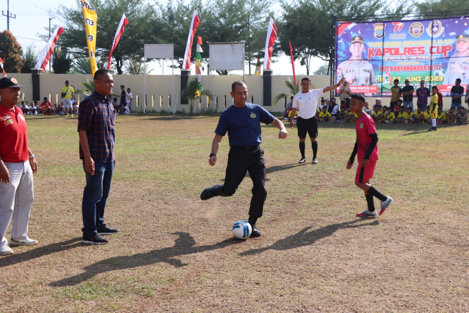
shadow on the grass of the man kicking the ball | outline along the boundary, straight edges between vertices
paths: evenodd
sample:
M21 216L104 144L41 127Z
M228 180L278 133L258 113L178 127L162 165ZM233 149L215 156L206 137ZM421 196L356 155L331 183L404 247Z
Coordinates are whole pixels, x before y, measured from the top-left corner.
M85 267L86 272L82 274L64 278L56 282L51 282L50 285L55 287L77 285L80 282L86 281L94 275L98 275L100 273L115 271L119 269L141 267L159 262L165 262L174 267L183 267L188 264L182 263L181 260L178 260L175 257L180 255L212 251L219 248L227 247L232 244L242 243L241 240L230 238L220 241L216 244L194 246L196 244L196 241L192 236L189 235L189 233L176 232L173 233L173 235L178 235L179 238L174 241L174 246L172 247L153 250L145 253L137 253L129 256L123 255L119 257L109 258L106 260L101 260L99 262Z

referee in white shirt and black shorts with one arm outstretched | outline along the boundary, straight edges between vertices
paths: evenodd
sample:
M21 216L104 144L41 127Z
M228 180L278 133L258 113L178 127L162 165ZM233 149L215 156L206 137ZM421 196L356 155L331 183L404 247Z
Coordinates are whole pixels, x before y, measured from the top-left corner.
M318 107L319 97L328 91L334 90L335 88L340 87L344 82L345 77L342 77L340 81L333 86L310 90L311 80L308 77L304 77L301 80L302 91L298 92L293 98L292 104L292 117L290 119L290 128L293 129L293 117L298 110L298 119L296 120L296 126L298 128L298 137L300 137L300 153L301 160L298 163L306 162L306 157L304 155L305 149L305 140L306 133L310 135L311 147L313 148L313 164L318 163L316 155L318 154L318 142L316 137L318 137L318 121L316 121L316 110Z

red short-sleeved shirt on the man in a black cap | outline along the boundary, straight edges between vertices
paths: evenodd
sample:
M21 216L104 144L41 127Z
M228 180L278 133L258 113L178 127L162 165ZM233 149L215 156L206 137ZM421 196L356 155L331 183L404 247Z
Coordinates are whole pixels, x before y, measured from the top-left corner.
M4 162L19 163L29 159L28 130L23 111L0 104L0 156Z

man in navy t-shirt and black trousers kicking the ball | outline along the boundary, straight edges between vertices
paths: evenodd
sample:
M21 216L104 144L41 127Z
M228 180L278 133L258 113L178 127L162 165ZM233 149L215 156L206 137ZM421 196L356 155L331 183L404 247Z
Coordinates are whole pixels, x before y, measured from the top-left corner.
M252 227L251 237L259 237L261 232L256 228L256 221L262 216L267 196L264 150L259 147L262 142L260 123L277 127L280 130L279 138L286 138L287 130L279 119L263 107L246 102L248 86L244 82L236 81L231 85L231 96L234 98L234 105L228 107L220 115L212 142L212 153L208 160L210 165L215 165L221 139L228 132L230 151L225 183L205 189L200 198L206 200L215 196L233 196L246 172L249 172L253 187L248 222Z

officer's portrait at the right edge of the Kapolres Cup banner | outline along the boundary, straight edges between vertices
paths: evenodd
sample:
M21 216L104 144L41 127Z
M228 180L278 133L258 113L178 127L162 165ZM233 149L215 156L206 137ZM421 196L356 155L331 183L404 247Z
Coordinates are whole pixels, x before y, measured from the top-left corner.
M449 58L444 85L454 84L456 78L461 79L461 85L469 84L469 34L456 36L456 51Z

